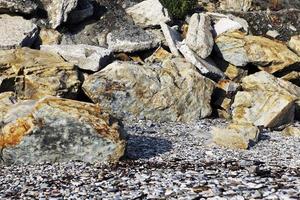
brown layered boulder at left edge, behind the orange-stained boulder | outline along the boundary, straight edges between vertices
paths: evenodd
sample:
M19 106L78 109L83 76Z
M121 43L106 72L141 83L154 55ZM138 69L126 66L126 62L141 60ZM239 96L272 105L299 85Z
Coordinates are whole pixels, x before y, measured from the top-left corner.
M0 51L0 91L14 90L18 98L45 95L75 98L80 81L74 65L56 54L29 48Z

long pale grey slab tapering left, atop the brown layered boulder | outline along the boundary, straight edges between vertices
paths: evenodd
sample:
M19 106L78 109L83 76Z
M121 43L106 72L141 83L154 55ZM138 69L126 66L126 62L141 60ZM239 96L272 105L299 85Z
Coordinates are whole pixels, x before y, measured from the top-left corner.
M111 51L91 45L42 45L41 50L57 53L80 69L99 71L111 58Z

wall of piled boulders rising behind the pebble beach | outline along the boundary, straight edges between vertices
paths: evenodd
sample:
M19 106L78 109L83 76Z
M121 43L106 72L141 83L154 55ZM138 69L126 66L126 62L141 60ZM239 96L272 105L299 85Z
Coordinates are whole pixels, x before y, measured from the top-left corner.
M1 160L116 162L123 119L225 118L213 143L238 149L299 135L299 9L199 1L174 20L159 0L2 0Z

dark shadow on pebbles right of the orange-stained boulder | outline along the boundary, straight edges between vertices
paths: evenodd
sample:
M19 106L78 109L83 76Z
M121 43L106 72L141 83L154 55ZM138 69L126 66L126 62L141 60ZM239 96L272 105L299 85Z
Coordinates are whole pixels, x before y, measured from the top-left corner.
M172 150L172 143L164 138L128 135L124 160L150 159Z

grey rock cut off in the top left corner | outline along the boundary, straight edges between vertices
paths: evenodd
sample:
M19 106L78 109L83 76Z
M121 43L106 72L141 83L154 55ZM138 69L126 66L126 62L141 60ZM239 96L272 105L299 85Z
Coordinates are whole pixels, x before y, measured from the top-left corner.
M37 4L32 0L1 0L0 13L31 14L37 9Z

